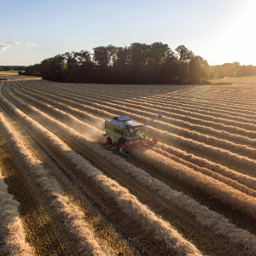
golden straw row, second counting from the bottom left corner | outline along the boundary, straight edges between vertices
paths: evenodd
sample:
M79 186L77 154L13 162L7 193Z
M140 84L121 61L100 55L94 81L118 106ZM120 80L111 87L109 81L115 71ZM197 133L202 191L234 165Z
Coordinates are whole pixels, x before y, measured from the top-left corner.
M16 154L20 154L20 157L26 162L30 172L38 177L38 183L41 184L47 195L52 199L52 205L55 207L56 212L63 214L65 223L67 224L67 230L79 238L78 252L85 253L86 255L106 255L96 241L89 224L84 221L84 212L68 199L63 189L61 189L60 183L55 177L50 176L49 170L44 168L44 164L30 153L30 150L24 145L19 133L15 131L14 127L9 125L3 115L0 115L0 125L9 134L12 143L18 149Z

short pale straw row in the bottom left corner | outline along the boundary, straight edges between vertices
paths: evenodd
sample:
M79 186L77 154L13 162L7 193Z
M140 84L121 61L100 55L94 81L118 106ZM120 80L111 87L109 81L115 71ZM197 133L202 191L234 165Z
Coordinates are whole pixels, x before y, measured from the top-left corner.
M2 115L2 113L0 113ZM1 255L34 255L33 248L26 242L18 201L8 192L0 168L0 253Z

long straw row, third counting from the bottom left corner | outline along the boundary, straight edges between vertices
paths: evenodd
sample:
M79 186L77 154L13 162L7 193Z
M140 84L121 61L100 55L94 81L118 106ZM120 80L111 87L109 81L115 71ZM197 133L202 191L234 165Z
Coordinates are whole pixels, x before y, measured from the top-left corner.
M44 127L22 113L2 95L0 95L0 100L13 114L15 114L15 116L22 119L26 125L32 127L34 131L44 134L44 137L46 137L56 151L61 152L63 157L66 157L73 163L73 165L77 166L77 169L80 172L83 172L86 177L90 177L107 195L117 201L119 207L121 207L130 218L134 218L140 224L143 224L143 228L148 232L152 232L157 240L166 241L166 247L177 252L178 255L201 255L194 245L189 243L189 241L184 240L170 224L161 218L158 218L154 212L151 212L148 209L148 207L137 201L137 198L134 195L131 195L127 189L103 175L102 172L94 166L91 166L87 160L84 160L79 154L76 154L71 148L68 148L67 144L62 143L58 137L55 137L55 135L45 130ZM63 128L64 126L65 125L63 125ZM66 132L67 135L73 133L81 139L81 136L79 136L78 133L75 133L72 129L68 129L67 126Z

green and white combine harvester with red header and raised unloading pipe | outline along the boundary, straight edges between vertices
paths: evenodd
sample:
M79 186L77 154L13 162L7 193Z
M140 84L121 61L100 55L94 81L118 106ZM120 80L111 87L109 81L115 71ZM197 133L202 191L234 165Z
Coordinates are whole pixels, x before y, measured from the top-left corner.
M158 143L157 137L152 139L147 138L145 133L141 133L143 128L154 121L154 119L161 118L160 114L149 120L146 124L140 124L132 120L130 115L122 115L111 120L105 121L105 131L103 137L107 137L107 143L117 143L119 152L131 157L128 154L130 147L137 148L137 146L153 146Z

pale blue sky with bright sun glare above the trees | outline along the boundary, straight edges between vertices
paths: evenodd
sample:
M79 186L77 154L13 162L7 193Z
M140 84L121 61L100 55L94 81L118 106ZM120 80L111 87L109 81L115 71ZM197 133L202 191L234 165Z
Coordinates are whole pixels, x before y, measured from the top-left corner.
M185 45L209 65L256 66L255 0L3 1L0 66L113 44Z

